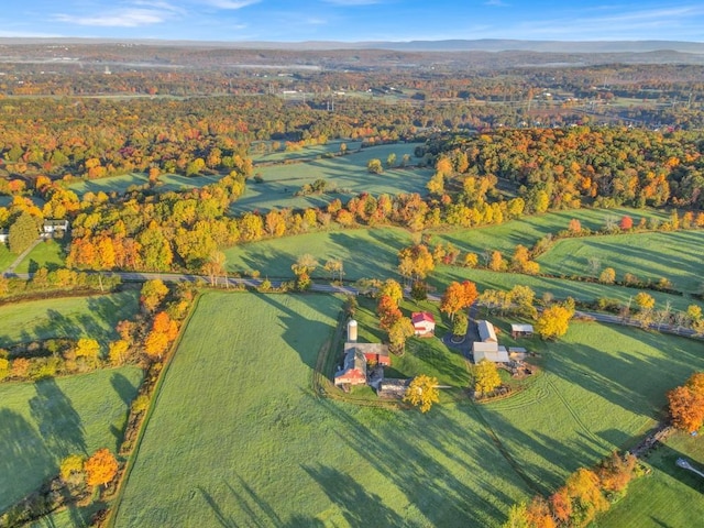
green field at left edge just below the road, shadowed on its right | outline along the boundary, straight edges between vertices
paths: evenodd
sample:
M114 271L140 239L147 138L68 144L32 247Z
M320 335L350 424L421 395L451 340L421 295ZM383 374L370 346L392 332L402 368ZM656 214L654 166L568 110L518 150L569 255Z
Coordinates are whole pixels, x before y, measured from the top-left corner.
M63 297L0 306L0 346L52 338L92 338L107 350L114 330L138 311L139 293Z

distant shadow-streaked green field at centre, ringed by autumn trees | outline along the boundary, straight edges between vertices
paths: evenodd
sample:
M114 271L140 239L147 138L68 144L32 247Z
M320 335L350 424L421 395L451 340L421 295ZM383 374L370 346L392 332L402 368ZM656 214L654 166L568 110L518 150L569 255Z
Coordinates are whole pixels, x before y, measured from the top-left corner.
M283 208L321 207L334 198L343 202L360 193L372 195L398 195L402 193L427 194L426 184L432 176L431 169L403 168L404 154L411 156L410 164L417 163L414 150L418 143L396 143L363 148L345 156L317 158L305 163L277 164L258 166L255 174L261 175L262 183L248 180L246 191L232 206L233 212L258 209L268 211ZM385 168L382 174L371 174L366 164L372 158L381 160L384 166L389 154L396 154L397 166ZM338 191L324 195L294 196L305 185L317 179L324 179Z

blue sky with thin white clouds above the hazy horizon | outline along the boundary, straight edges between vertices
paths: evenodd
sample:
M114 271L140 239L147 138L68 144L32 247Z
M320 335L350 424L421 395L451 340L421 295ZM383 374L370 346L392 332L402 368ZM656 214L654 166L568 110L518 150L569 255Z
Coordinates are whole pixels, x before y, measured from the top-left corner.
M11 0L0 37L194 41L704 41L704 2Z

